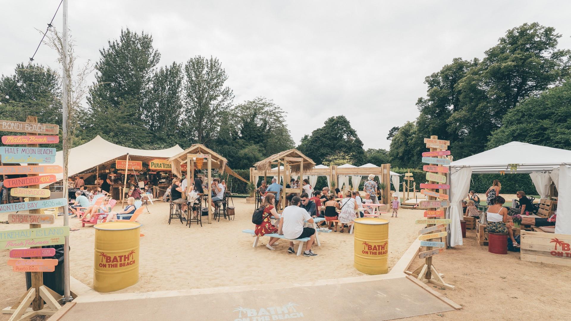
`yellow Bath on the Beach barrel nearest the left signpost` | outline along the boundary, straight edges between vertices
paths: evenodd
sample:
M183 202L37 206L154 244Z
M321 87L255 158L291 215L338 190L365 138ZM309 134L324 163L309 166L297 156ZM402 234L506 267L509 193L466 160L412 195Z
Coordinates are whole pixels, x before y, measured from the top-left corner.
M139 281L138 222L106 222L95 226L93 288L112 292Z

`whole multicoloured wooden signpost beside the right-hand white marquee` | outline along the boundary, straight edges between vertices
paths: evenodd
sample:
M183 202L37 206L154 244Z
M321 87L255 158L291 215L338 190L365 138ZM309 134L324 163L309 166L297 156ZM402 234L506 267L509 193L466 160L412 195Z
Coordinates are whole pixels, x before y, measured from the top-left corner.
M423 200L419 202L421 208L427 208L428 210L424 212L424 217L435 218L435 219L417 219L416 224L427 224L427 227L419 231L420 246L425 246L427 251L420 252L419 258L425 259L424 264L416 268L413 272L405 271L408 275L414 276L424 283L433 283L438 286L448 288L452 290L454 286L444 282L442 276L436 270L436 267L432 264L432 256L439 254L445 249L445 242L436 242L436 240L447 236L448 232L442 231L445 228L445 224L451 223L451 219L444 218L444 208L449 206L447 190L450 188L449 184L437 184L446 183L446 176L435 174L435 173L448 173L448 168L443 167L443 165L448 165L451 163L450 151L447 150L449 141L443 141L438 139L437 136L431 136L431 138L425 138L424 142L427 144L427 148L430 151L423 153L422 161L423 163L428 163L424 165L423 169L427 171L426 178L428 183L421 183L420 187L423 190L420 191L421 194L427 195L428 200ZM439 191L437 191L439 190ZM443 200L436 200L440 198ZM431 234L424 234L431 233ZM427 241L429 240L429 241ZM437 247L437 248L433 248Z

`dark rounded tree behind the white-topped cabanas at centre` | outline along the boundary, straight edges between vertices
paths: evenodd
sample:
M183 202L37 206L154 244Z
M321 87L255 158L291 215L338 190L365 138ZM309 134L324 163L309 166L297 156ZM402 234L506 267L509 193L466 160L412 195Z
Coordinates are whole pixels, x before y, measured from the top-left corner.
M316 164L339 153L351 155L355 166L364 164L365 160L363 142L345 116L329 117L323 127L301 139L298 149Z

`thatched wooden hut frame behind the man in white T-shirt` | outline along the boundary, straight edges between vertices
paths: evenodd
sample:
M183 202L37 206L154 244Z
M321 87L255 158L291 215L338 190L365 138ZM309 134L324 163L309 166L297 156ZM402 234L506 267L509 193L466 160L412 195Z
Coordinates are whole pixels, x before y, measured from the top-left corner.
M292 174L299 174L300 178L303 180L303 175L305 174L304 171L308 170L315 170L315 162L308 158L299 150L290 149L286 151L282 151L282 153L271 155L270 157L260 160L258 163L254 164L256 171L264 173L264 179L267 177L267 172L272 169L272 166L278 166L278 179L280 179L280 166L283 164L283 180L282 180L282 195L280 195L280 203L278 204L279 208L284 208L286 205L286 193L302 193L303 188L302 184L300 184L299 188L286 188L286 183L289 183L289 177ZM320 168L321 169L321 168ZM323 168L328 170L328 168ZM261 176L261 175L260 175ZM254 168L250 168L250 182L252 184L256 184L258 182L254 182ZM279 182L278 182L279 184Z

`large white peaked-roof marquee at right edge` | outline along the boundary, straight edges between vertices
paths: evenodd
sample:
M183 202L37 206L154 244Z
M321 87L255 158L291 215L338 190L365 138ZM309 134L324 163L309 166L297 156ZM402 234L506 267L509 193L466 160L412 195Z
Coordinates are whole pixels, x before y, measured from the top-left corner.
M538 146L521 142L510 142L494 149L486 150L480 154L463 158L452 162L450 181L455 186L469 186L470 177L464 175L460 168L471 168L473 173L509 173L515 168L517 173L533 174L534 172L549 172L549 178L553 179L559 194L557 202L557 220L555 232L558 234L571 234L571 150L555 149L553 147ZM512 170L513 172L513 170ZM532 179L534 176L532 175ZM544 180L534 180L538 192L542 192ZM540 185L538 185L540 184ZM461 190L460 190L461 191ZM458 191L456 191L458 192ZM451 186L451 200L455 200L455 190ZM458 215L451 215L451 211L460 211ZM452 206L448 210L449 217L461 216L462 208ZM451 240L457 238L457 231L451 229Z

